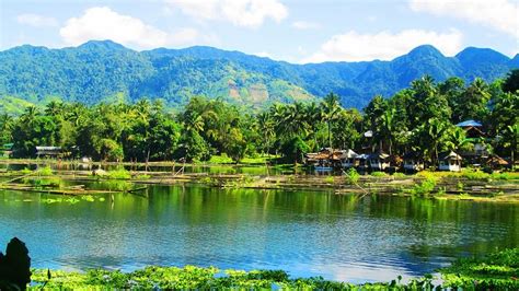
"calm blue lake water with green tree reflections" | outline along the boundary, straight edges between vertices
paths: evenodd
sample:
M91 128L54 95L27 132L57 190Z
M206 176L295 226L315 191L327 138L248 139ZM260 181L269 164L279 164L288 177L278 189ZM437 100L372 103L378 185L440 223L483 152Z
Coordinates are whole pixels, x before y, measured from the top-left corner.
M56 198L0 191L2 248L20 237L37 268L196 265L366 282L519 244L519 207L507 203L188 185Z

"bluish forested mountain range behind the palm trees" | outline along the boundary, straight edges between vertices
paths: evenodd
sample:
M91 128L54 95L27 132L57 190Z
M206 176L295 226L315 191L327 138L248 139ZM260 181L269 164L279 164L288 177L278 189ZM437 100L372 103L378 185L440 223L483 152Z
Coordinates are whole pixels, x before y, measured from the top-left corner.
M518 56L510 59L487 48L470 47L445 57L428 45L391 61L308 65L211 47L139 53L109 40L62 49L24 45L0 51L0 107L11 106L13 97L95 104L114 96L130 102L163 98L176 106L193 95L265 107L311 101L333 91L344 106L361 108L373 95L390 96L424 74L436 81L460 77L472 82L480 77L489 82L518 67Z

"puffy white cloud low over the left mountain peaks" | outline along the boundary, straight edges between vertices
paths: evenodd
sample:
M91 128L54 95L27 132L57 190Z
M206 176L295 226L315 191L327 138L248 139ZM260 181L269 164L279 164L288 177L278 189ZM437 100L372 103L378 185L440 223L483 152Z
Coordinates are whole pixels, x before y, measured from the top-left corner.
M59 33L68 45L80 45L91 39L112 39L138 48L191 45L201 37L194 28L166 33L107 7L90 8L80 18L69 19Z

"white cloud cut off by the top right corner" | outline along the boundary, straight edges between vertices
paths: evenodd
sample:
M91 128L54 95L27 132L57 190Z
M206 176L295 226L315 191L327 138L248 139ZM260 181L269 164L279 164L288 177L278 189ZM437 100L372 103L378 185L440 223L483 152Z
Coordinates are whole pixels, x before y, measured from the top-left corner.
M414 11L483 24L519 37L519 3L509 0L410 0Z

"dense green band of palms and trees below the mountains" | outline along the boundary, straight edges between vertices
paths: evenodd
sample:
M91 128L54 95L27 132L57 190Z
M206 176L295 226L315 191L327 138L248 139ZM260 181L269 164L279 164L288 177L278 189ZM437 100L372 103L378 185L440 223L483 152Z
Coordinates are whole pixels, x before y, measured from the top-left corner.
M425 75L389 98L380 95L359 112L344 108L330 93L320 103L273 104L254 113L219 98L191 98L180 112L160 100L100 103L53 101L0 115L0 142L13 143L16 158L35 156L36 146L57 146L76 156L105 161L206 161L227 154L234 161L262 154L298 162L321 148L416 151L435 161L446 150L469 150L474 141L455 124L475 119L497 154L517 154L519 70L486 83L460 78L435 82ZM370 135L366 135L370 132Z

